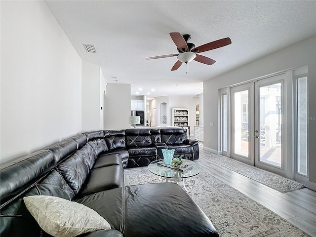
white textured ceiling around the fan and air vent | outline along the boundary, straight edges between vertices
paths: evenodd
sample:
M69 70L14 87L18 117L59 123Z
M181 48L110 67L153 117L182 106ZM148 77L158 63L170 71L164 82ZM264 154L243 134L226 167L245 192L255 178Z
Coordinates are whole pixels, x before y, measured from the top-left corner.
M46 1L81 59L99 65L107 82L131 83L148 98L195 96L203 81L316 35L316 1ZM170 32L190 34L196 46L230 37L232 44L200 53L216 60L193 61L170 71L177 53ZM87 53L83 43L94 44ZM177 86L176 86L177 84ZM151 89L155 91L151 91Z

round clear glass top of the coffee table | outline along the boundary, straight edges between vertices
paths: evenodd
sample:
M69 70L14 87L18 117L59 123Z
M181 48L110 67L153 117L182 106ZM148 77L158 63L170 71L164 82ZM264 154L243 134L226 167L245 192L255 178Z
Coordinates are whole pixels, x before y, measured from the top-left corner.
M188 159L185 159L185 164L188 164L189 166L192 166L192 167L184 171L179 171L167 166L162 166L158 164L158 162L160 161L163 161L163 159L158 159L151 162L148 165L148 169L153 174L156 174L158 176L165 177L165 178L188 178L188 177L197 175L202 170L202 167L198 163L192 160L188 160Z

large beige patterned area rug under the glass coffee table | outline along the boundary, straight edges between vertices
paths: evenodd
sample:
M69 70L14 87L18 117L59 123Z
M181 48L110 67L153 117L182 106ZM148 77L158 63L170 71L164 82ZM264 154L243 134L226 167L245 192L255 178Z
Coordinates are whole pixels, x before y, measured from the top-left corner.
M220 237L311 237L205 170L193 179L196 184L189 195ZM126 186L159 182L147 168L125 169L124 180Z

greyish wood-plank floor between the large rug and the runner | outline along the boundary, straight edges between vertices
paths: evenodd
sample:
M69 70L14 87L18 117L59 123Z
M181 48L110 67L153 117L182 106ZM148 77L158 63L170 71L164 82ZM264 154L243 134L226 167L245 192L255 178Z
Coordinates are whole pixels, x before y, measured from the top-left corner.
M209 161L205 158L208 154L211 153L203 150L202 146L200 146L200 157L196 162L202 163L203 168L207 169L216 178L259 202L309 235L316 237L315 191L305 188L284 194L280 193L235 171Z

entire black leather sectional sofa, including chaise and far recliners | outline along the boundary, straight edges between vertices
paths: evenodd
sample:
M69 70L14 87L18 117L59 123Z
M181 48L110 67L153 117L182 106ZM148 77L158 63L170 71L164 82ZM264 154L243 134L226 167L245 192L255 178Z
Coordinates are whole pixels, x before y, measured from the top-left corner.
M0 236L49 236L23 201L46 195L84 204L112 228L81 236L217 237L211 221L179 185L124 187L124 165L147 165L165 147L175 148L176 156L198 158L197 143L187 140L182 129L126 129L82 133L2 165Z

